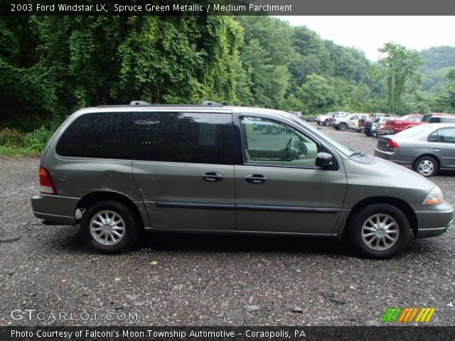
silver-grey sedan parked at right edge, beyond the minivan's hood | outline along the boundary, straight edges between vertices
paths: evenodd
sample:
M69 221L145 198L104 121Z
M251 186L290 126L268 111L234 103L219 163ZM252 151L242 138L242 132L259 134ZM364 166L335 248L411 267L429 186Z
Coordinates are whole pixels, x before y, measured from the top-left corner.
M455 170L455 124L422 124L381 136L375 156L412 168L426 177Z

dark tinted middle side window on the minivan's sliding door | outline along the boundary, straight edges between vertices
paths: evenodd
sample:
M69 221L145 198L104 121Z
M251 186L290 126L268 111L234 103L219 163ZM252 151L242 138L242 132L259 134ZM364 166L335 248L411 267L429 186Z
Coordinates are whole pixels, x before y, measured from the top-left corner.
M134 139L136 160L233 164L230 114L139 112Z

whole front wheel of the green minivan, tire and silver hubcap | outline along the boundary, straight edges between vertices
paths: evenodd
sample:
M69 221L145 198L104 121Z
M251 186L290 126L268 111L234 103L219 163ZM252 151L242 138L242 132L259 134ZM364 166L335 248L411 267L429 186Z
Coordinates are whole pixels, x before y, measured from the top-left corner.
M373 259L395 256L410 239L410 223L397 207L374 204L363 207L348 222L346 237L358 254Z

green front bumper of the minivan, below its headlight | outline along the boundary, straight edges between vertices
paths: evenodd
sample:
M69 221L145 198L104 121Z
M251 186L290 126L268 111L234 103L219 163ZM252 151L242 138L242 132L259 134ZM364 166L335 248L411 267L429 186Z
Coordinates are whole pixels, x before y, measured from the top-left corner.
M454 207L447 202L438 205L411 205L417 216L416 238L444 234L454 222Z

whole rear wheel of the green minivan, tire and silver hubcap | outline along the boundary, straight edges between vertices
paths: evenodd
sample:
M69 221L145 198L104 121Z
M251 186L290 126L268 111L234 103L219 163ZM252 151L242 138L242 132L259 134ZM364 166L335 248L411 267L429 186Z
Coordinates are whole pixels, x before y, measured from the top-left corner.
M140 225L132 210L122 202L103 200L87 207L80 228L85 243L103 253L131 248L139 237Z

